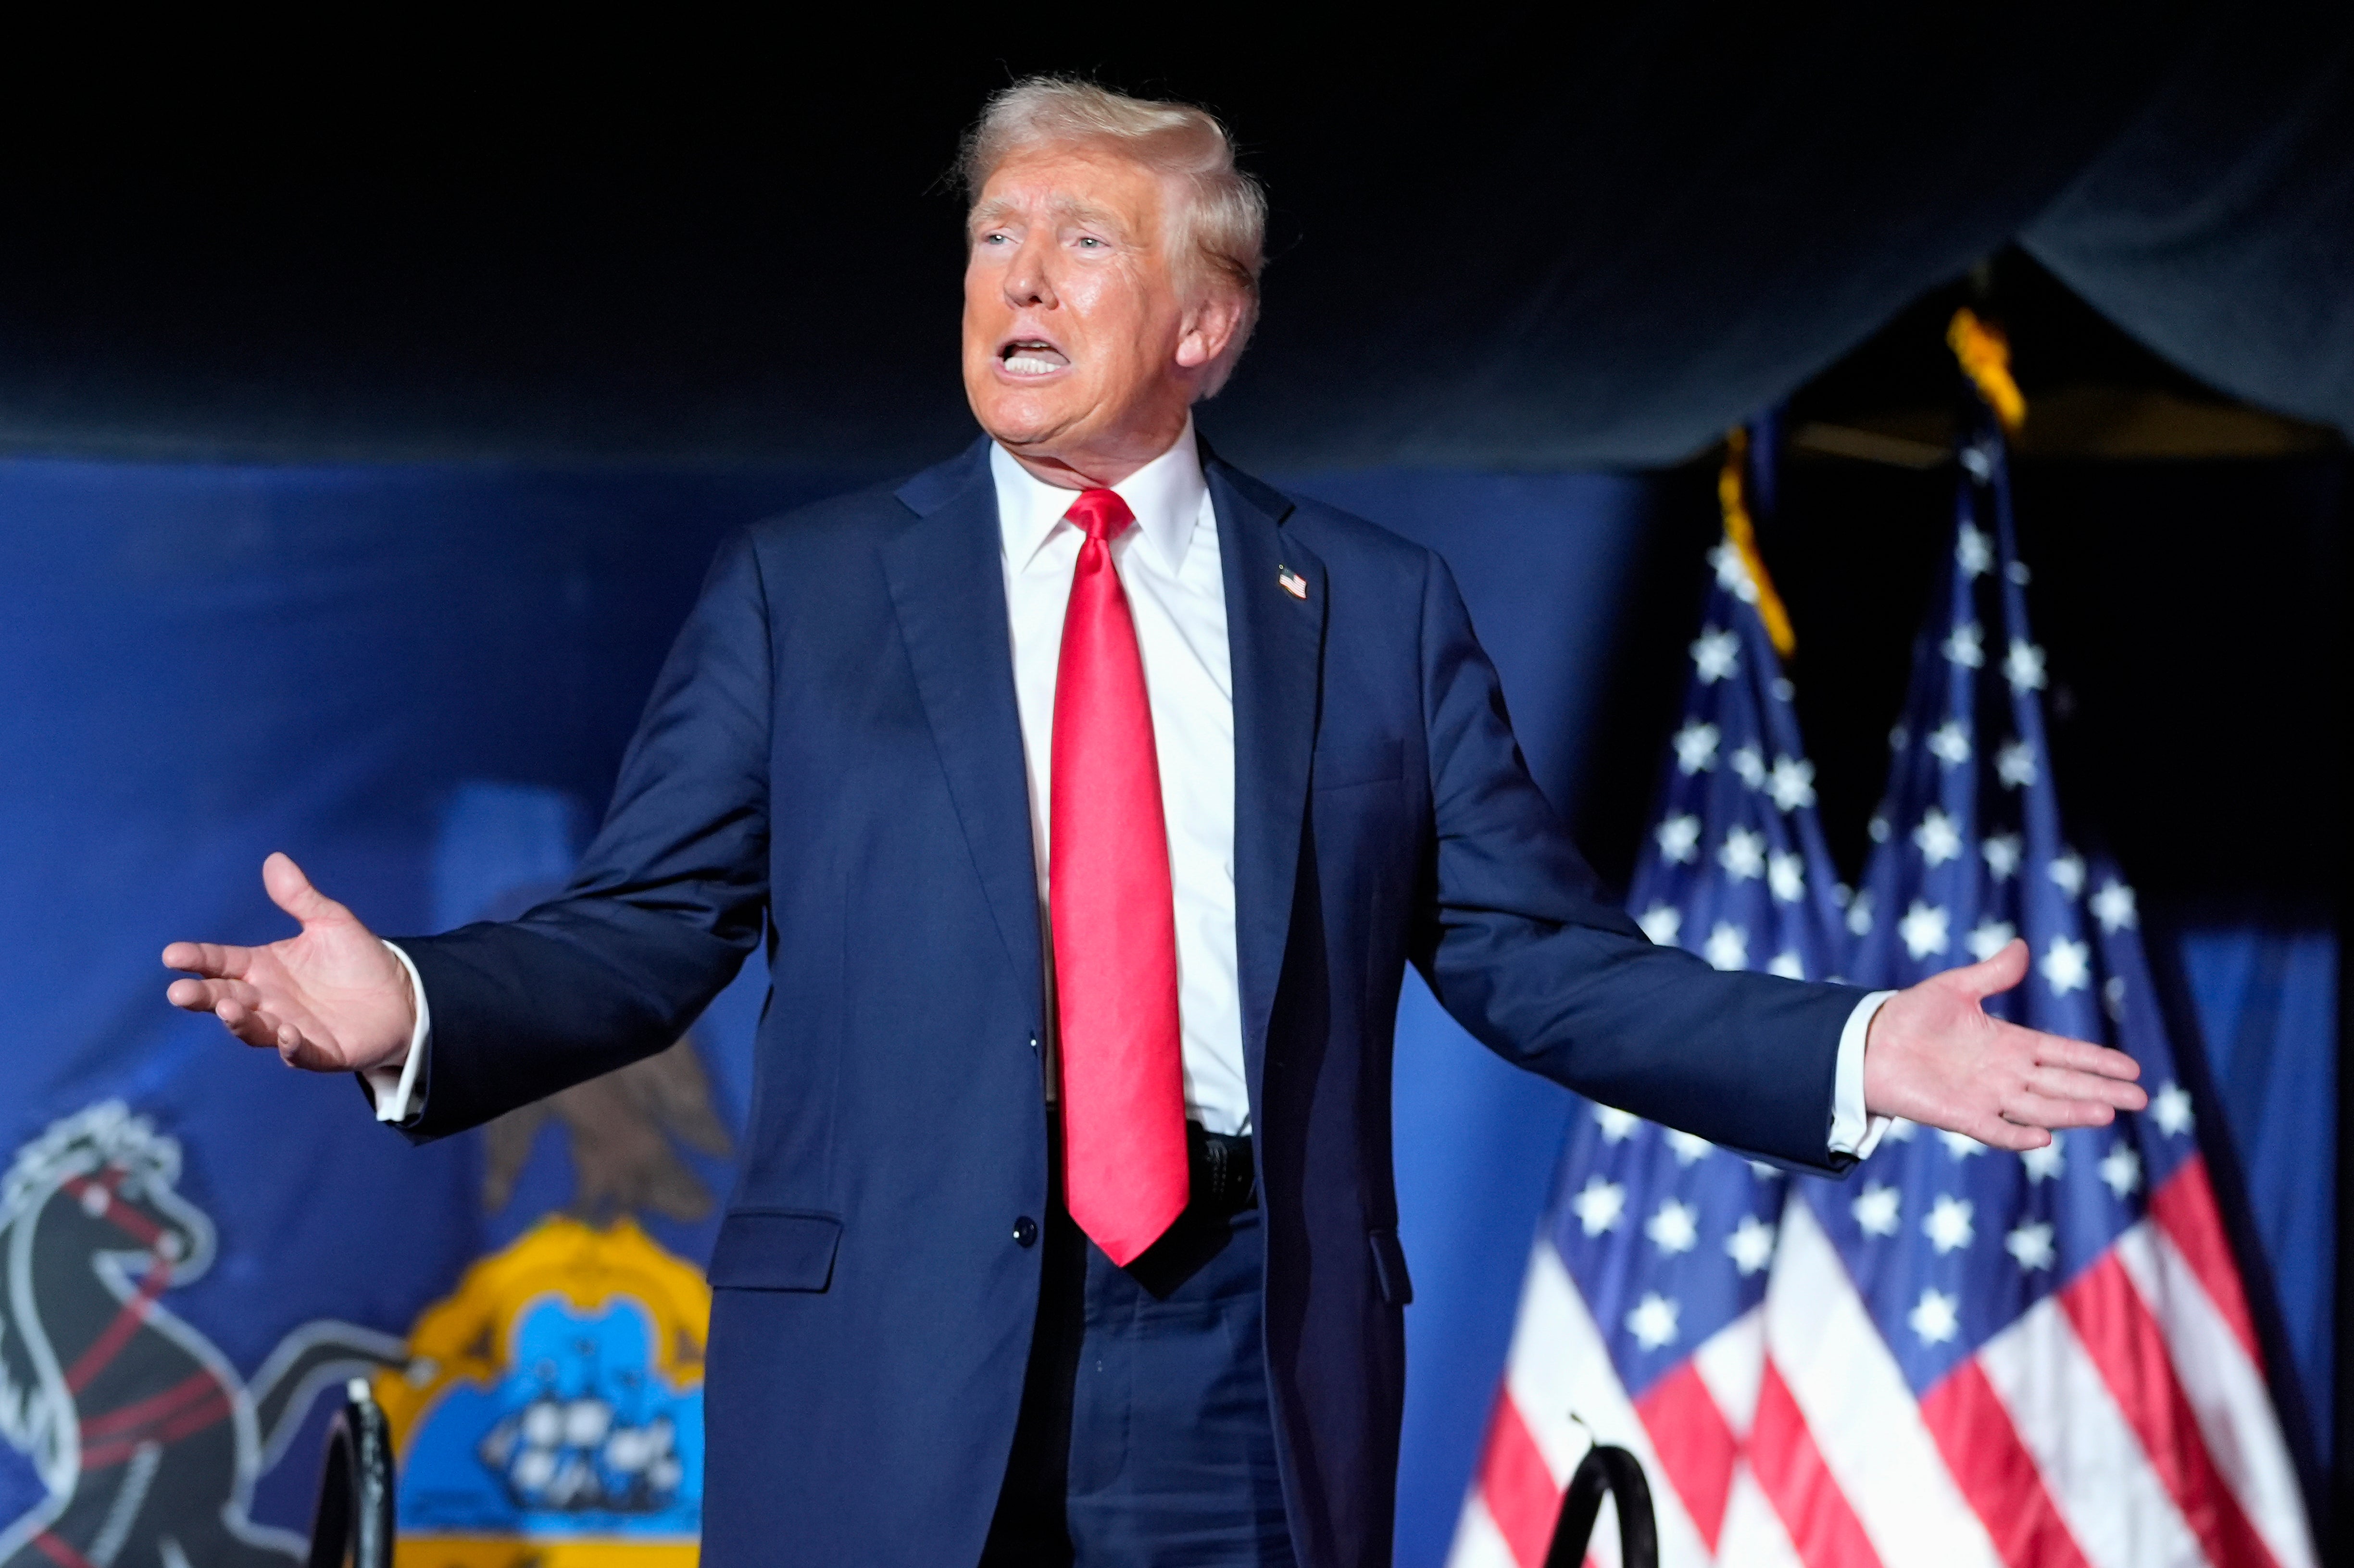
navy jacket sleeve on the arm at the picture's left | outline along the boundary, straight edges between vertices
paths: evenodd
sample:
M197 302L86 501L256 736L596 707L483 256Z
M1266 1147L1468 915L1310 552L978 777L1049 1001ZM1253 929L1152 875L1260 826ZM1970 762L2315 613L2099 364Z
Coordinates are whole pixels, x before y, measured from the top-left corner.
M767 596L749 534L704 582L572 885L518 921L400 937L433 998L412 1137L459 1132L671 1045L767 906Z

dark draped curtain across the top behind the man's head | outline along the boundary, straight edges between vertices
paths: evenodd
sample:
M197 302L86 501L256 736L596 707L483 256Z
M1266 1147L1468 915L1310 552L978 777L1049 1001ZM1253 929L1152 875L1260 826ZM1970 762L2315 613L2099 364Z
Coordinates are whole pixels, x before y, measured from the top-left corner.
M2354 426L2345 7L1405 16L19 38L0 440L930 459L951 148L1048 68L1210 104L1266 179L1208 414L1252 464L1671 461L2013 238Z

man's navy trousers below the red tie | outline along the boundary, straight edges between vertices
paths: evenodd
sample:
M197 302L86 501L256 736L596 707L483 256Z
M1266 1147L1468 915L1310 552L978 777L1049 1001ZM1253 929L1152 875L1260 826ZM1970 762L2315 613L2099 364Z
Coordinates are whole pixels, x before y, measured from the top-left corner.
M1038 1328L982 1568L1292 1568L1259 1210L1189 1210L1116 1267L1048 1212Z

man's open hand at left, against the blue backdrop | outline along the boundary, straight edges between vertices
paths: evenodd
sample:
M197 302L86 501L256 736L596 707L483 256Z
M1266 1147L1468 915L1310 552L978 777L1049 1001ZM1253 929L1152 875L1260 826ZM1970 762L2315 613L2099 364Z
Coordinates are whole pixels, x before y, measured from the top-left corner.
M285 855L261 862L271 902L301 935L268 946L174 942L162 949L174 979L165 998L212 1012L247 1045L268 1045L287 1067L315 1074L400 1067L417 1026L410 972L372 930L311 885Z

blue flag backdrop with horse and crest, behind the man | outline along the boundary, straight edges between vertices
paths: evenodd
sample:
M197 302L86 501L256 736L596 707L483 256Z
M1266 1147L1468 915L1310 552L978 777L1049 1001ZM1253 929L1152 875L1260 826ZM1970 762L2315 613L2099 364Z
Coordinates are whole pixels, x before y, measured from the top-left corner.
M859 480L0 461L0 1227L54 1243L42 1288L68 1290L52 1309L28 1276L0 1311L0 1563L59 1561L35 1537L73 1530L137 1561L224 1504L217 1540L181 1542L195 1561L282 1561L308 1521L313 1396L351 1370L377 1380L410 1453L426 1446L412 1530L676 1547L697 1269L760 977L596 1092L410 1149L348 1081L165 1008L158 951L282 935L259 885L273 848L388 932L527 902L603 810L720 534ZM1641 805L1650 725L1671 713L1662 695L1629 746L1612 704L1648 680L1627 664L1660 572L1645 551L1693 539L1674 485L1365 471L1302 487L1445 549L1556 803L1617 789ZM1693 544L1667 567L1662 647L1690 640ZM1620 786L1612 756L1643 777ZM2232 1045L2232 1111L2293 1125L2295 1147L2319 1114L2326 1137L2326 1099L2290 1085L2309 1083L2312 1041L2326 1050L2328 932L2225 921L2192 958L2208 1036ZM1452 1533L1568 1121L1568 1095L1408 989L1408 1563ZM2250 1187L2305 1205L2267 1201L2267 1224L2326 1212L2307 1161L2250 1163ZM2279 1255L2312 1276L2295 1300L2321 1302L2298 1316L2300 1356L2326 1377L2326 1260L2293 1236L2281 1222Z

